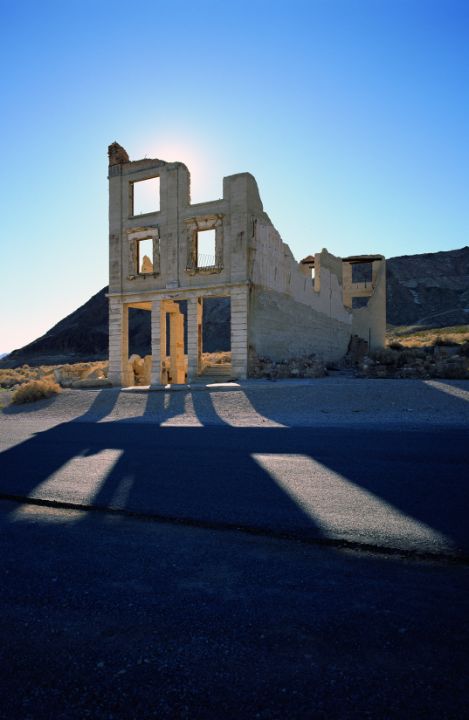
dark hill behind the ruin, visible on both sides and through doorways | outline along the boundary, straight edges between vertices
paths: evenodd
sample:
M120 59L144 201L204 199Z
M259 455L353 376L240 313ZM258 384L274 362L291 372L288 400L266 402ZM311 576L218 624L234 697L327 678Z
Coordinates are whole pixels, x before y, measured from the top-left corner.
M107 287L45 335L0 359L0 367L77 362L107 357ZM183 307L183 311L185 308ZM469 247L387 261L387 320L391 325L444 327L469 323ZM226 298L204 303L203 346L229 348ZM150 313L132 310L130 352L150 352Z

